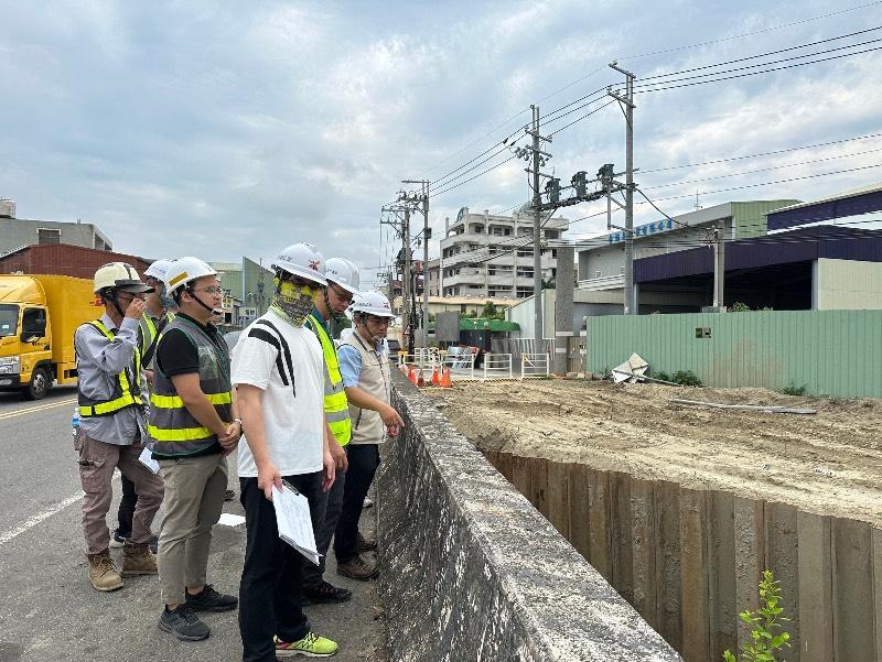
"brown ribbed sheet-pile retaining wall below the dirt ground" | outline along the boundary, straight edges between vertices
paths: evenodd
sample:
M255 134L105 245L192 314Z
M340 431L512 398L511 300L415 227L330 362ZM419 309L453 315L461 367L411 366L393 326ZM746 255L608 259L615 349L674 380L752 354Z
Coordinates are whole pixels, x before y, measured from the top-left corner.
M882 661L882 531L785 503L581 464L487 453L686 662L738 652L762 572L781 582L787 662Z

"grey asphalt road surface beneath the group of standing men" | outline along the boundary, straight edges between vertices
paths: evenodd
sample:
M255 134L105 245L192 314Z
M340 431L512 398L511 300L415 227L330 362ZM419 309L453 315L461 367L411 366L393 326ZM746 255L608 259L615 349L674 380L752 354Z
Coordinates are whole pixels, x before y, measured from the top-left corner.
M241 645L237 611L203 618L212 636L183 643L158 629L162 609L155 577L127 577L114 593L94 590L80 528L82 490L71 415L76 391L53 390L28 402L0 393L0 662L237 662ZM235 473L235 462L230 474ZM114 482L118 488L118 477ZM238 493L238 480L230 476ZM115 498L108 524L116 525ZM238 500L225 512L243 514ZM364 530L372 530L365 511ZM153 524L159 530L162 510ZM245 527L214 529L209 582L238 593ZM117 564L121 551L112 550ZM308 607L313 630L341 644L341 662L383 660L383 621L375 585L334 572L325 577L354 593L344 605ZM380 650L378 650L380 649Z

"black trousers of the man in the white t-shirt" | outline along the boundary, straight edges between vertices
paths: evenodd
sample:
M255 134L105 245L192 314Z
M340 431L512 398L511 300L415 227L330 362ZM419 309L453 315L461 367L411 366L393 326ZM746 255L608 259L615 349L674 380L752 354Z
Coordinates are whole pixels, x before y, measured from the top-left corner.
M315 530L322 474L286 476L310 502ZM303 639L310 623L301 608L302 568L306 561L279 538L272 502L257 487L257 478L240 478L247 540L239 584L239 633L243 662L275 662L272 637L282 641Z

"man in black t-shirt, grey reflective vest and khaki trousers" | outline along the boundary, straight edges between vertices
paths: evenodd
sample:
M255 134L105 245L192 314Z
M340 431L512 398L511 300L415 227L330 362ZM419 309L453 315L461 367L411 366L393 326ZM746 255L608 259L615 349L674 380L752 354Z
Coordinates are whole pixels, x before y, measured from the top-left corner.
M226 456L241 436L229 354L208 322L223 302L217 272L198 258L175 260L165 284L179 306L157 344L148 431L165 482L159 536L160 629L181 641L209 634L196 611L227 611L237 598L207 583L212 528L227 488ZM140 499L140 496L139 496Z

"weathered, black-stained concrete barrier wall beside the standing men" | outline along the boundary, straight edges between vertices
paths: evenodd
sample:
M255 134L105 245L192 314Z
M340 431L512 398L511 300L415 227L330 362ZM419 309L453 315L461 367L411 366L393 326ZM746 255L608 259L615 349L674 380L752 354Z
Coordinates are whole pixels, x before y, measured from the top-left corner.
M433 402L394 379L407 425L377 476L392 660L680 660Z

